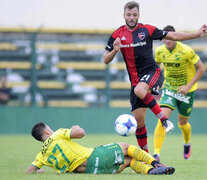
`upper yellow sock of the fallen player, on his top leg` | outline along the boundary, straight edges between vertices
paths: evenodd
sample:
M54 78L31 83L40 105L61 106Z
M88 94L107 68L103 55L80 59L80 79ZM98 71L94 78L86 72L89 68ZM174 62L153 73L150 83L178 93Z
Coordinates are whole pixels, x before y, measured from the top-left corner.
M133 145L129 145L128 148L128 155L131 156L132 158L138 160L138 161L143 161L149 165L151 165L152 161L154 161L155 159L148 154L146 151L133 146Z

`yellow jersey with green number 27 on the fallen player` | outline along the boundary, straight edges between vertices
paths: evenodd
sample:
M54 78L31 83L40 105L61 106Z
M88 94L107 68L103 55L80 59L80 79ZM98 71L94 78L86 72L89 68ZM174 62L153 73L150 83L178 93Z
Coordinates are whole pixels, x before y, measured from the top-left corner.
M50 166L58 173L72 172L81 165L93 152L93 148L86 148L71 141L71 129L58 129L43 144L32 165L41 168Z

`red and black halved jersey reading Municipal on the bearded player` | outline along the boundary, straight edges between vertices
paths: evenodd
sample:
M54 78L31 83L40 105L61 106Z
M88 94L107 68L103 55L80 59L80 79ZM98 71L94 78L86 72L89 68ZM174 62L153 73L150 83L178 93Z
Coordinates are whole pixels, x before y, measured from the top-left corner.
M126 63L129 79L132 86L136 86L140 75L148 69L159 67L153 58L153 40L162 40L166 35L166 31L151 25L138 23L133 31L123 25L112 33L105 49L112 51L115 39L118 37L121 39L121 53Z

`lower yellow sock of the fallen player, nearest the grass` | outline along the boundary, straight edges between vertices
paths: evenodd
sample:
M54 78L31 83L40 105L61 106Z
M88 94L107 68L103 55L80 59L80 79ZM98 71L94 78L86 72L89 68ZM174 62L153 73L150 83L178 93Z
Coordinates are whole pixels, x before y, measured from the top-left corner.
M148 165L137 161L136 159L132 159L130 163L130 167L137 173L148 174L148 171L152 168Z

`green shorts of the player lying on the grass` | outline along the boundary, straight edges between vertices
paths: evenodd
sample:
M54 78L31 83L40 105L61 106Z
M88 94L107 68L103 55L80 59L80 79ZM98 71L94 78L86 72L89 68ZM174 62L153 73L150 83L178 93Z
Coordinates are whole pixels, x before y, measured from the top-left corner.
M86 173L114 174L123 163L124 154L119 144L98 146L87 160Z

